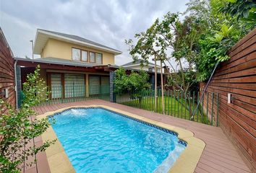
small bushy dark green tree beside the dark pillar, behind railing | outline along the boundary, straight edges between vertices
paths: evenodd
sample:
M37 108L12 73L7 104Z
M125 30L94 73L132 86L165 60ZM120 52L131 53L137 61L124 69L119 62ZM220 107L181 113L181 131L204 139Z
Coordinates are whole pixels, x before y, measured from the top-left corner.
M146 71L135 72L132 71L131 74L126 74L124 68L119 68L116 70L116 79L114 80L115 90L114 92L118 94L131 93L133 98L139 99L141 105L141 100L143 99L144 92L150 89L150 84L148 83L148 73Z

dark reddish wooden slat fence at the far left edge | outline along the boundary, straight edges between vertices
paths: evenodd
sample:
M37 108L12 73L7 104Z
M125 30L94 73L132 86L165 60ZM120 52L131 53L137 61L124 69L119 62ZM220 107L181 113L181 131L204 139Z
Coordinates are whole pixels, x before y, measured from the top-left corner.
M12 105L12 107L15 107L16 105L14 81L14 58L12 50L9 48L4 33L0 27L0 99L3 99L5 102ZM5 97L6 95L4 92L8 92L8 97Z

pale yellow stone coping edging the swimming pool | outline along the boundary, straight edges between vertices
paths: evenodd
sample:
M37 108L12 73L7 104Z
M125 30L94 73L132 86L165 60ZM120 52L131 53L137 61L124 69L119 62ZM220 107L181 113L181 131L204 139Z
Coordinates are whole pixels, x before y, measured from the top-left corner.
M64 107L59 110L46 112L42 115L38 115L38 119L46 118L48 116L54 115L59 112L63 112L64 110L69 110L72 108L89 108L89 107L100 107L106 110L111 110L113 112L117 112L122 115L127 115L128 117L133 117L137 120L140 120L145 123L150 123L152 125L156 125L160 128L164 128L166 130L171 130L175 133L178 133L178 138L181 141L187 143L187 147L184 149L179 158L175 161L174 165L168 170L169 173L173 172L194 172L197 167L197 163L202 155L202 151L205 148L205 142L200 140L199 138L194 137L194 133L190 130L186 130L184 128L179 128L173 125L168 125L166 123L161 123L156 120L150 120L149 118L142 117L140 115L135 115L129 112L125 112L123 110L118 110L114 107L108 107L106 105L87 105L87 106L71 106ZM56 133L52 127L49 127L45 133L42 135L43 141L54 140L57 138ZM48 164L52 173L59 172L75 172L74 167L67 154L64 151L64 148L61 146L59 141L49 148L46 149L46 157L48 160Z

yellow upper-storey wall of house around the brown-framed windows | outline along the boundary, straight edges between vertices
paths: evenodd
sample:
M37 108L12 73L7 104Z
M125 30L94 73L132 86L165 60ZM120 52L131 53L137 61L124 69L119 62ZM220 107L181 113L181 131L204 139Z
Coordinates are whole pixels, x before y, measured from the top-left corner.
M55 40L51 38L47 41L46 46L43 48L41 56L42 58L53 57L72 60L72 48L80 48L82 50L89 50L96 53L102 53L103 65L114 65L114 53L108 53L102 50L96 50L82 45L75 45L72 43L67 43L64 41Z

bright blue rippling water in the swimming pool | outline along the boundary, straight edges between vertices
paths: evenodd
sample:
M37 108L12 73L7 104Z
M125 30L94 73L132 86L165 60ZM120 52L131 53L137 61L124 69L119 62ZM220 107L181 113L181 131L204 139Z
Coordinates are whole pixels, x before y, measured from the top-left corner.
M71 109L54 119L76 172L167 172L185 148L171 133L101 108Z

